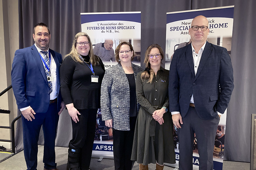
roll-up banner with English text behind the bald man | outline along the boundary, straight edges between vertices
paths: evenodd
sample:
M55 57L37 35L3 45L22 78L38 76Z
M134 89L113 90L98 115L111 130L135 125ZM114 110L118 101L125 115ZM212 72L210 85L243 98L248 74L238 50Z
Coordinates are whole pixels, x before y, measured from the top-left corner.
M234 6L168 12L166 22L166 69L170 69L172 55L174 54L175 50L190 44L191 40L189 35L189 28L191 27L191 22L193 18L198 15L203 15L208 19L210 33L208 35L207 41L212 44L225 47L228 50L228 54L231 55ZM222 133L225 134L226 111L220 118L219 126L222 129ZM176 134L177 130L176 128L174 128L176 164L166 165L178 168L179 137ZM216 140L218 140L217 137ZM225 154L224 149L219 148L219 141L221 140L219 139L218 141L215 141L216 147L214 147L214 149L212 150L214 170L222 170L223 156ZM197 150L196 134L193 149L193 169L199 169L200 162Z

